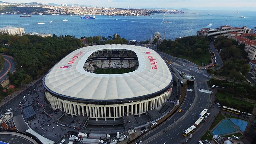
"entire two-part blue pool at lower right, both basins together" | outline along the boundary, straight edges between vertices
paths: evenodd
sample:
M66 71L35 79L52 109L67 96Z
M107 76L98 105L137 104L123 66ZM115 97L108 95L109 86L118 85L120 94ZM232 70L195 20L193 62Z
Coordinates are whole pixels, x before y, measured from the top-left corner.
M246 121L240 120L240 119L235 119L235 118L230 118L231 122L234 123L239 127L240 131L244 131L247 125ZM229 132L235 132L237 131L236 128L233 127L228 119L223 120L213 131L213 134L216 135L221 135Z

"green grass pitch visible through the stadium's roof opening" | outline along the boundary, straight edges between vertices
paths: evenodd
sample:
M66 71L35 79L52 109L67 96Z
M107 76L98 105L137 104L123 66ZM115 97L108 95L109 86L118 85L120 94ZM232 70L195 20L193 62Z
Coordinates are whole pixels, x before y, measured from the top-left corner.
M95 74L124 74L134 71L133 68L97 68Z

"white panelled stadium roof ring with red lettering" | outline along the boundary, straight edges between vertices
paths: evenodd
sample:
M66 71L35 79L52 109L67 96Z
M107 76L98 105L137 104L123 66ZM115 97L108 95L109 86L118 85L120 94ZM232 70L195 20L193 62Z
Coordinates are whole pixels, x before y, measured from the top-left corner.
M131 50L139 67L124 74L94 74L84 70L84 63L95 51ZM153 59L153 60L150 60ZM156 68L155 65L156 64ZM151 65L153 64L153 65ZM81 100L127 100L150 95L170 86L172 74L155 51L135 45L94 45L71 52L45 76L47 90L60 96Z

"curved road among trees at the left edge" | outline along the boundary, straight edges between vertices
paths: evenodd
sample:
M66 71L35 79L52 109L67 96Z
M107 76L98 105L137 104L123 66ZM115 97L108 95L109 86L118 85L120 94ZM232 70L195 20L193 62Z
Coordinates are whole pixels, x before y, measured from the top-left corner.
M0 83L3 82L8 76L7 73L10 71L11 73L15 70L16 63L11 56L3 55L4 57L4 67L3 70L0 71Z

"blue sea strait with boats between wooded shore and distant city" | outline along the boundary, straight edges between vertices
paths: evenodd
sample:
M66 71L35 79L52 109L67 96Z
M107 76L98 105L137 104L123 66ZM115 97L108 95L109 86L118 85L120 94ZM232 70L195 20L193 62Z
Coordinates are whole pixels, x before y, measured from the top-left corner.
M157 13L151 16L106 16L95 15L93 20L83 20L70 15L31 15L30 18L17 14L0 15L0 28L23 27L25 32L55 34L57 36L113 36L115 33L128 40L145 41L158 31L161 37L174 40L177 37L193 36L202 28L219 28L223 25L254 29L256 11L198 11L186 10L183 14ZM240 17L244 18L240 18ZM150 18L153 17L153 18ZM63 20L68 21L63 21ZM52 23L50 23L52 21ZM164 23L168 21L169 23ZM44 24L38 24L43 22ZM211 23L211 24L210 24Z

